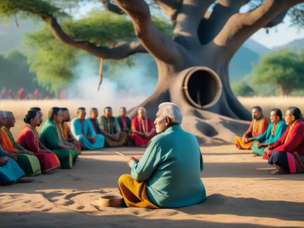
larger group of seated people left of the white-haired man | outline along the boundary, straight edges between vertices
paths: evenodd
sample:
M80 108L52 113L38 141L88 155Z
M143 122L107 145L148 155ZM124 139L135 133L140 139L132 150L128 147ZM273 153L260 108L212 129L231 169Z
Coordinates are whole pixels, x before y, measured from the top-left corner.
M124 107L117 118L112 116L111 107L106 107L99 118L98 110L92 108L88 119L85 108L79 108L69 127L69 110L53 107L38 134L36 128L42 124L42 117L40 108L31 108L15 140L11 133L15 124L13 113L0 111L0 185L31 182L33 179L25 176L53 174L57 168L71 169L83 149L147 146L156 135L154 123L144 108L139 108L132 121Z

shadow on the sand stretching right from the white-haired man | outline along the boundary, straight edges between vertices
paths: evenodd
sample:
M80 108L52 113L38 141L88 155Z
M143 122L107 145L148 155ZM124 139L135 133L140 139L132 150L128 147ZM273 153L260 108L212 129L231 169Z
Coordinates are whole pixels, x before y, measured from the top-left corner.
M304 221L302 208L304 208L303 202L235 198L221 194L212 194L202 204L177 210L190 215L223 214Z

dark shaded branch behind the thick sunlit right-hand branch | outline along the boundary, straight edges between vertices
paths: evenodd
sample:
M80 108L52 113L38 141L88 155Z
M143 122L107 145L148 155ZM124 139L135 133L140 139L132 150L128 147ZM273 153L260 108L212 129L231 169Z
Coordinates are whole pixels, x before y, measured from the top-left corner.
M250 0L219 0L212 12L207 11L199 24L199 41L201 44L211 42L223 29L229 18L240 11Z

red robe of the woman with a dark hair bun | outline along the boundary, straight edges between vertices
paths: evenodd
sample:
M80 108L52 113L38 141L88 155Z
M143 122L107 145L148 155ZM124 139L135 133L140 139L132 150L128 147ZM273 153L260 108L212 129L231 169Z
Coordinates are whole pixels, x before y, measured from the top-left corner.
M41 172L46 173L60 167L58 157L55 154L39 152L39 136L31 126L26 125L20 132L17 143L26 150L34 152L38 158Z

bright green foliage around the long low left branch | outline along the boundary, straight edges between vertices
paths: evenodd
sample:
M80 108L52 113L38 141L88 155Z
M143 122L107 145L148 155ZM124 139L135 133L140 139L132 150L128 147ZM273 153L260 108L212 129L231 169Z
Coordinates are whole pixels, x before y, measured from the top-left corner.
M172 36L170 24L159 18L154 18L154 23L165 34ZM126 16L107 11L95 10L78 20L64 19L61 27L64 32L79 40L88 40L105 47L122 40L130 42L136 39L133 25ZM29 64L31 72L36 72L40 85L56 93L62 85L77 77L74 68L80 63L81 56L87 55L86 52L57 40L48 25L25 34L24 38L23 47L28 51L35 50L29 55ZM104 64L110 65L110 69L125 64L132 66L133 59L134 56L123 60L105 60ZM99 64L96 64L97 72L98 69Z

